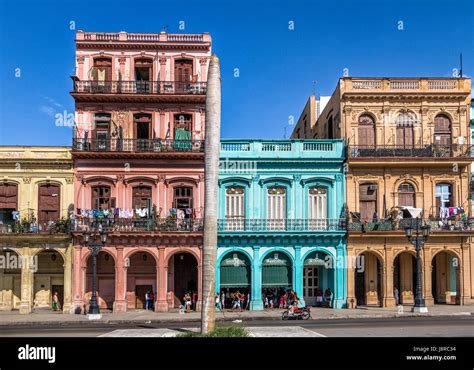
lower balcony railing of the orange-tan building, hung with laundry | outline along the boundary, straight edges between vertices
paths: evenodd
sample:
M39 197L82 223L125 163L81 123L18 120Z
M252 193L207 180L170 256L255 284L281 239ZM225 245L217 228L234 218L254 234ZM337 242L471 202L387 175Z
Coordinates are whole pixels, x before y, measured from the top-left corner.
M474 219L465 218L460 220L451 219L421 219L422 223L429 225L431 231L474 231ZM405 231L409 226L414 226L416 218L403 218L401 220L380 221L349 221L348 231Z

